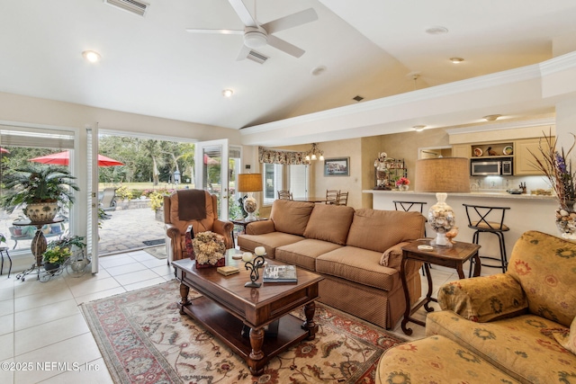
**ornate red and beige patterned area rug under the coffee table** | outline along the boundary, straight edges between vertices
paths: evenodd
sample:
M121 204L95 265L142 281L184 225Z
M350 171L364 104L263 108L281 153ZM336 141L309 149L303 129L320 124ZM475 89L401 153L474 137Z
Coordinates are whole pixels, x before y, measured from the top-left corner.
M114 382L369 384L382 353L403 342L317 304L316 338L280 353L255 377L228 346L180 315L178 299L179 283L168 281L81 305ZM293 314L305 318L302 309Z

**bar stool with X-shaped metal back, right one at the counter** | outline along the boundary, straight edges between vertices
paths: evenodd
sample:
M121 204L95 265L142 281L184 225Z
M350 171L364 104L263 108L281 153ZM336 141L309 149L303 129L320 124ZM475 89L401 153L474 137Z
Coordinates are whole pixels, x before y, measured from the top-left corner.
M462 204L466 209L468 217L468 228L474 229L472 242L478 244L481 233L492 233L498 237L500 245L500 259L491 256L481 256L481 259L490 259L500 262L500 265L481 264L489 268L502 268L502 272L508 269L508 258L506 256L506 243L504 242L504 232L510 228L504 224L504 215L509 207L486 207L482 205ZM490 218L489 218L490 215ZM490 219L490 221L489 221ZM469 276L472 276L473 263L470 263Z

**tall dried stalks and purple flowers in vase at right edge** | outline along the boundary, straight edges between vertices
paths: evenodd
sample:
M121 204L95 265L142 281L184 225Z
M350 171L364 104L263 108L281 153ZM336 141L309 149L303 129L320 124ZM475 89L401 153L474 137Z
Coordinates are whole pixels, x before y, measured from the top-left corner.
M575 174L572 172L572 161L568 159L568 156L573 147L574 143L568 152L564 152L563 148L558 151L551 132L540 139L539 155L530 152L535 160L534 167L546 176L554 189L560 208L571 211L576 201L576 192L574 189Z

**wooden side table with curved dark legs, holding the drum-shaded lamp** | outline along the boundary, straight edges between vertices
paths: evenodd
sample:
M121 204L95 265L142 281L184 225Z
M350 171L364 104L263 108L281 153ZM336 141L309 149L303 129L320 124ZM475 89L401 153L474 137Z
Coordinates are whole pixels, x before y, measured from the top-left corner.
M452 247L434 246L431 251L420 250L418 246L430 245L432 239L420 239L410 242L407 246L402 246L402 262L401 262L401 280L402 288L404 289L404 297L406 299L406 309L404 318L402 319L402 331L406 335L412 335L412 329L407 327L406 324L411 321L419 326L426 326L426 323L414 317L411 317L422 305L427 312L432 312L434 308L428 307L430 301L436 301L432 298L432 277L430 276L429 264L441 265L449 268L454 268L458 272L458 277L464 279L463 264L470 259L474 259L474 274L473 276L480 276L480 256L478 250L480 246L471 243L456 242ZM422 299L414 307L410 308L410 294L408 291L408 284L406 282L406 263L409 260L423 262L426 268L426 277L428 279L428 293L426 298Z

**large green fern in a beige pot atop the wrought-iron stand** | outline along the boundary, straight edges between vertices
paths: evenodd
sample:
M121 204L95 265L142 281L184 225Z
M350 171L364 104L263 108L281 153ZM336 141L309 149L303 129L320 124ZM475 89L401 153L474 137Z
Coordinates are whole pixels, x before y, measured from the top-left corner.
M67 168L26 165L4 176L2 207L12 213L23 206L23 213L31 222L49 221L60 207L74 202L76 177Z

